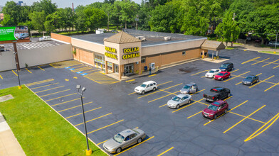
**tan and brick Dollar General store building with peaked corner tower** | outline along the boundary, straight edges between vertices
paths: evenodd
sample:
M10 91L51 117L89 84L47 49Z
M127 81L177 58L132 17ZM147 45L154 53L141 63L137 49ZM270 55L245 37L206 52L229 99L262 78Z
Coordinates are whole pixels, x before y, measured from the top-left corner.
M51 37L61 38L53 33ZM205 41L207 46L202 48ZM120 33L74 35L70 41L75 60L105 69L106 74L115 72L119 79L123 75L142 74L149 67L207 57L208 49L224 48L223 43L212 42L214 48L210 47L211 41L200 36L130 29Z

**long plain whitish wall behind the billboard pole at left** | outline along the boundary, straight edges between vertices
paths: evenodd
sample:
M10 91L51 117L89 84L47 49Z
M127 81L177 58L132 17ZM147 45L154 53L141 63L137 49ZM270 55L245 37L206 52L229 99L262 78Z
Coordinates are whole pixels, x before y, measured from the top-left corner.
M30 50L18 50L19 65L25 68L36 65L44 65L52 62L59 62L73 59L70 44L56 45L46 48L34 48ZM0 52L0 72L16 69L16 62L12 51Z

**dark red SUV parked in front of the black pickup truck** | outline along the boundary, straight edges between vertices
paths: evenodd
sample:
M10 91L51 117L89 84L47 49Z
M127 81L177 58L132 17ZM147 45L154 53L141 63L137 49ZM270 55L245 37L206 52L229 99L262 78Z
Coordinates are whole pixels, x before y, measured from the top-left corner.
M222 113L228 112L228 103L223 100L215 101L211 103L207 108L202 111L202 116L206 118L216 119Z

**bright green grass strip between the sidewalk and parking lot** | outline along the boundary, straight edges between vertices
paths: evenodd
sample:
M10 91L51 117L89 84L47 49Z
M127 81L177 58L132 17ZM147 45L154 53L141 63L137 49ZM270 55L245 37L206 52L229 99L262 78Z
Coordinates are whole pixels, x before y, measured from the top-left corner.
M0 111L26 155L85 155L85 136L27 87L1 89L0 96L14 99L0 102ZM89 143L93 155L106 155Z

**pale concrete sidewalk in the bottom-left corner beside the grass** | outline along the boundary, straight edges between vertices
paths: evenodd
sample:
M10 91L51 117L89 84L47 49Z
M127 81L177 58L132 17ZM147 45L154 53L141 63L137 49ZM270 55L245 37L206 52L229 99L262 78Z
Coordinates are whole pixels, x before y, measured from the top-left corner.
M6 123L4 116L0 113L0 155L16 155L23 156L21 145L16 140L14 133L11 131L8 123Z

